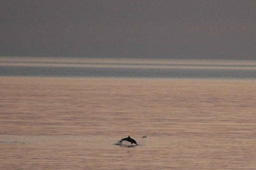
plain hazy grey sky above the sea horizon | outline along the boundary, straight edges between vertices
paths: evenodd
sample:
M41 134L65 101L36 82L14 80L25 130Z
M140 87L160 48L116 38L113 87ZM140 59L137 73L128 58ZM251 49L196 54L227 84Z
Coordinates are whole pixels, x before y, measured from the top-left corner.
M256 59L256 1L0 1L1 56Z

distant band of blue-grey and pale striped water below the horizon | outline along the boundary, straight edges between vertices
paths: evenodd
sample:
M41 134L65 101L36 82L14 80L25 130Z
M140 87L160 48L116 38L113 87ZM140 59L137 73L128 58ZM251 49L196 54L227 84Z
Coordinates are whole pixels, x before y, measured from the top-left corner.
M0 76L255 79L256 61L5 58Z

